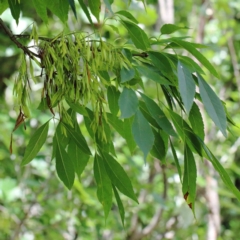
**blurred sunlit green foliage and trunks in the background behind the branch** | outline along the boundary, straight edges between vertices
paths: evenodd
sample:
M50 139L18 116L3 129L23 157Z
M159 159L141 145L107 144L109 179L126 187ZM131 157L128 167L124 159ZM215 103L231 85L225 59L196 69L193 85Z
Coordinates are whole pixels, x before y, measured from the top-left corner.
M209 76L207 80L220 94L221 99L226 101L231 117L239 126L240 3L237 0L194 2L188 0L175 1L171 7L171 4L164 5L164 2L148 1L147 18L142 4L136 1L129 7L127 1L115 1L114 11L118 8L127 8L144 24L146 32L155 36L159 35L159 27L163 23L174 22L180 26L190 27L188 35L191 35L193 40L210 46L211 50L203 49L202 52L214 63L221 79L216 80ZM14 32L20 33L25 28L29 31L27 26L33 20L41 23L40 19L31 19L34 11L31 4L27 7L26 15L23 16L24 22L20 22L18 27L11 20L9 13L4 13L4 20L9 22ZM161 14L158 9L164 9L169 14ZM78 21L73 15L69 15L68 22L72 29L88 31L90 28L83 14ZM112 24L121 34L126 34L126 30L118 26L117 22ZM44 24L39 27L40 33L47 36L58 34L61 29L61 23L56 21L55 17L49 20L49 27ZM183 34L185 35L184 32L176 33L176 36ZM116 29L112 27L109 27L103 35L109 41L116 41ZM34 129L49 119L49 113L39 110L32 112L32 119L27 122L27 130L19 128L15 133L16 147L10 157L8 152L10 133L17 117L11 91L19 67L17 60L19 50L14 46L9 47L11 42L1 32L0 40L0 124L4 126L0 136L0 239L213 240L217 239L217 235L218 239L224 240L238 238L239 203L222 182L218 181L219 176L208 163L197 161L199 177L195 221L182 198L172 156L167 153L166 163L149 158L148 164L143 166L142 154L135 152L131 156L123 139L116 134L118 160L131 178L140 202L137 205L121 196L126 209L125 227L121 224L116 204L105 223L102 206L96 197L92 169L89 166L82 174L81 181L74 182L71 192L59 183L51 164L50 138L34 161L24 168L20 167L29 137ZM147 82L146 86L148 96L154 98L155 85ZM33 105L34 99L36 102L39 99L37 86L34 90L36 94L32 96ZM205 130L208 140L211 140L210 148L231 174L236 186L240 187L239 129L231 129L232 134L229 134L227 140L223 139L211 122L207 122ZM175 141L174 145L177 144ZM182 152L180 146L177 155L181 164ZM90 162L93 164L93 159L90 159ZM155 223L156 228L152 229L151 226L155 226ZM142 236L143 233L149 235Z

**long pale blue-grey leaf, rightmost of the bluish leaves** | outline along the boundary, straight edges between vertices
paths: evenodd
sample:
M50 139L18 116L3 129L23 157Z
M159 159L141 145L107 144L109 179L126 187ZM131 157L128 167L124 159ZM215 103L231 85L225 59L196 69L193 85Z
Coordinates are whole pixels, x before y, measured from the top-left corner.
M227 137L227 118L224 111L224 107L217 97L216 93L211 89L211 87L205 82L205 80L200 76L198 77L198 84L200 89L200 95L204 107L209 114L210 118L216 124L216 126L221 130L222 134Z

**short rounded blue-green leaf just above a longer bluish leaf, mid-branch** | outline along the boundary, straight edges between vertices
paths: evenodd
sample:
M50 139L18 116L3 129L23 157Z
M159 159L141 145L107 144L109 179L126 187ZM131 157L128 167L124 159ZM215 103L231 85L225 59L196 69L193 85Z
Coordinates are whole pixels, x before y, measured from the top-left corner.
M121 110L121 118L129 118L134 115L138 108L138 98L131 88L124 87L118 105Z

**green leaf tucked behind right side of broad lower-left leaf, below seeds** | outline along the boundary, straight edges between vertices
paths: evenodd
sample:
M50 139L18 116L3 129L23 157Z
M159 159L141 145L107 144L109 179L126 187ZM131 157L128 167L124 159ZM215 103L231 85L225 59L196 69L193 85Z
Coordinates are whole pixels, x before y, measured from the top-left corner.
M74 169L79 179L89 161L89 155L85 154L77 144L71 140L68 145L68 156L72 159Z

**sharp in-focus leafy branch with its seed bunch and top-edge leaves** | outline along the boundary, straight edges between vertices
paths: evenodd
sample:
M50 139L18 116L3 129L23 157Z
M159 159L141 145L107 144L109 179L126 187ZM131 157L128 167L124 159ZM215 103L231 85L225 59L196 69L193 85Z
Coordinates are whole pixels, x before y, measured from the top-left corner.
M70 0L34 0L33 4L45 24L48 23L48 11L66 25L69 9L77 18L77 7L81 7L94 28L90 12L100 22L101 2L92 0L88 1L88 5L82 0L78 2L80 6ZM118 132L126 140L131 153L137 145L143 152L145 162L152 155L165 163L170 141L182 181L183 197L193 211L197 178L195 154L211 161L224 183L240 199L230 177L203 142L204 125L195 100L203 103L224 136L227 135L226 110L203 79L204 72L198 64L174 52L176 48L187 50L218 77L215 68L198 50L204 46L185 41L185 37L163 39L162 35L186 29L172 24L162 26L160 37L151 39L130 12L121 10L114 13L111 8L113 1L104 2L111 18L119 20L126 29L129 36L127 43L108 42L101 36L101 30L95 28L92 29L94 34L63 31L53 38L42 37L33 26L29 40L34 40L38 48L38 52L34 53L4 28L13 43L22 50L19 75L14 84L21 114L14 130L30 117L32 90L29 78L36 78L33 69L36 66L41 72L38 76L42 83L40 108L51 112L54 122L58 121L52 150L56 172L64 185L72 189L75 174L80 178L91 162L91 155L94 155L97 197L103 206L105 218L112 208L112 191L123 224L125 210L118 191L138 202L130 178L115 159L117 154L112 132ZM24 11L21 5L18 1L9 0L8 7L18 23L21 10ZM6 8L4 1L0 13ZM104 24L107 21L105 18ZM170 52L169 49L174 51ZM159 94L157 99L147 94L147 80L152 80L155 90L163 93L161 99ZM81 115L81 121L78 121L76 113ZM30 138L22 165L29 163L40 151L48 136L48 125L49 121ZM183 174L173 138L181 139L184 144Z

